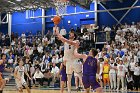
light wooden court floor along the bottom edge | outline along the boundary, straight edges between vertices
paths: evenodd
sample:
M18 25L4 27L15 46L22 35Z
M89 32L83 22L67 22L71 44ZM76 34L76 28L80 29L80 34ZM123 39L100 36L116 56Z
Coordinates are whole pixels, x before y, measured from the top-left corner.
M17 91L7 91L5 90L3 93L18 93ZM25 90L23 93L27 93ZM31 90L31 93L60 93L59 90ZM66 91L64 93L67 93ZM84 93L84 91L82 92L76 92L76 91L72 91L72 93ZM96 93L96 92L91 92L91 93ZM104 91L104 93L140 93L139 92L127 92L127 91Z

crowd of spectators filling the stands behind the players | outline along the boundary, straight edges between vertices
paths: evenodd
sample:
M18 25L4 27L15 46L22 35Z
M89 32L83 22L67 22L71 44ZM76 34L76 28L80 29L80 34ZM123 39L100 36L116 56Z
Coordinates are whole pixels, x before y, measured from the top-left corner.
M94 27L82 31L80 28L76 30L77 39L80 39L82 44L82 52L87 52L90 47L93 47L98 37L97 31L98 28L94 29ZM124 24L118 28L103 27L102 31L106 32L107 40L104 47L98 49L97 56L101 62L101 70L97 78L102 87L138 90L140 87L140 23ZM111 38L110 31L114 31L114 38ZM67 37L68 33L63 27L60 34ZM0 54L7 55L6 67L14 68L18 64L18 59L22 58L26 71L33 78L33 85L39 82L39 85L43 86L44 82L47 82L47 86L50 86L51 83L54 85L59 80L63 51L63 43L52 31L48 31L43 37L40 34L34 36L30 33L27 36L22 33L18 36L12 33L10 38L0 33ZM31 87L31 80L25 78Z

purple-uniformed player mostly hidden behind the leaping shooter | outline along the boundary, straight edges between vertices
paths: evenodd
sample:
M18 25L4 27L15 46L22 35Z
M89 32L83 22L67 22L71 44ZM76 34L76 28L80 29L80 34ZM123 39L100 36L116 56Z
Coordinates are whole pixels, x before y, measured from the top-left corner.
M61 63L60 65L60 93L64 92L64 86L65 86L65 82L67 82L67 74L66 74L66 64L65 63Z

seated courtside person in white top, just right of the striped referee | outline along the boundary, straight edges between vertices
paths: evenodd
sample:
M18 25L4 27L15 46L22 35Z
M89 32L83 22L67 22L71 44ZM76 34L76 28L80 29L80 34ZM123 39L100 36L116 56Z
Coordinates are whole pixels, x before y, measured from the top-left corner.
M43 75L43 73L40 71L40 69L39 69L39 67L36 69L36 71L35 71L35 74L34 74L34 76L33 76L33 82L34 82L34 84L35 84L35 81L37 81L37 82L39 82L39 84L41 85L41 86L43 86L43 77L44 77L44 75Z

